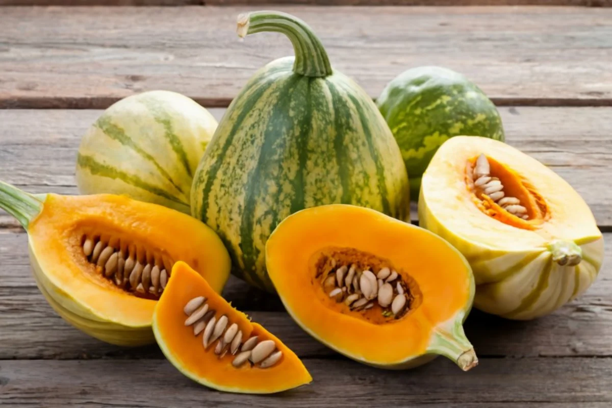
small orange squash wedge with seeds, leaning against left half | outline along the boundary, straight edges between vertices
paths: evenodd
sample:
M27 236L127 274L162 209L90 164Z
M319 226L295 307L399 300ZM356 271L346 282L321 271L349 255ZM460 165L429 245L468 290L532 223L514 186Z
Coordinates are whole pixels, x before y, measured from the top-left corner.
M184 262L155 306L153 331L168 360L207 387L275 393L312 381L297 355L234 309Z

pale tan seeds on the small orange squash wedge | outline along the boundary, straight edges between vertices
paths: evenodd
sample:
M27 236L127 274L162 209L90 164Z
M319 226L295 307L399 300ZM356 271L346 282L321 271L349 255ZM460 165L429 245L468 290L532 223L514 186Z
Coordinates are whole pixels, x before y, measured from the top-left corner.
M185 326L193 326L193 335L203 334L204 349L217 342L215 354L219 358L225 357L228 352L235 355L232 365L240 367L247 361L259 368L268 368L280 361L283 352L276 349L272 340L259 341L258 336L252 336L242 343L242 330L236 323L230 324L228 317L223 314L217 319L217 311L209 308L206 297L198 296L187 302L184 308L187 314Z

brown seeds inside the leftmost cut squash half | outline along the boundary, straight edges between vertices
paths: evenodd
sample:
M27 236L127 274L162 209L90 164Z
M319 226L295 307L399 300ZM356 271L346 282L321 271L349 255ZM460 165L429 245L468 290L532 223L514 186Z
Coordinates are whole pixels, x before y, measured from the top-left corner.
M159 297L170 278L173 262L162 256L139 259L135 250L114 248L101 239L84 237L83 252L102 275L125 291Z

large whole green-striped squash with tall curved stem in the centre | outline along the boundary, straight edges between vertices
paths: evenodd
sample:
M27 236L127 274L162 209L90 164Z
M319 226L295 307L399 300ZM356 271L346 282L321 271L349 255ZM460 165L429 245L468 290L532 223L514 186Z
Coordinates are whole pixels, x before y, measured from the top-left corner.
M285 217L346 203L406 220L409 188L375 103L332 70L307 24L280 12L239 17L241 37L261 31L287 35L296 56L264 66L231 103L193 179L192 215L225 242L235 275L274 292L264 250Z

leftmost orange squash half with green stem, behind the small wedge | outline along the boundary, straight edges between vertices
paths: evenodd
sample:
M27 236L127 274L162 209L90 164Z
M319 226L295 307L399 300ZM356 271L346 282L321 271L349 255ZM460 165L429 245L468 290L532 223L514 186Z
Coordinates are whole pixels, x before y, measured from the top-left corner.
M220 292L230 256L206 225L124 196L32 196L0 182L0 208L28 231L40 291L66 321L121 346L154 342L151 322L179 259Z

